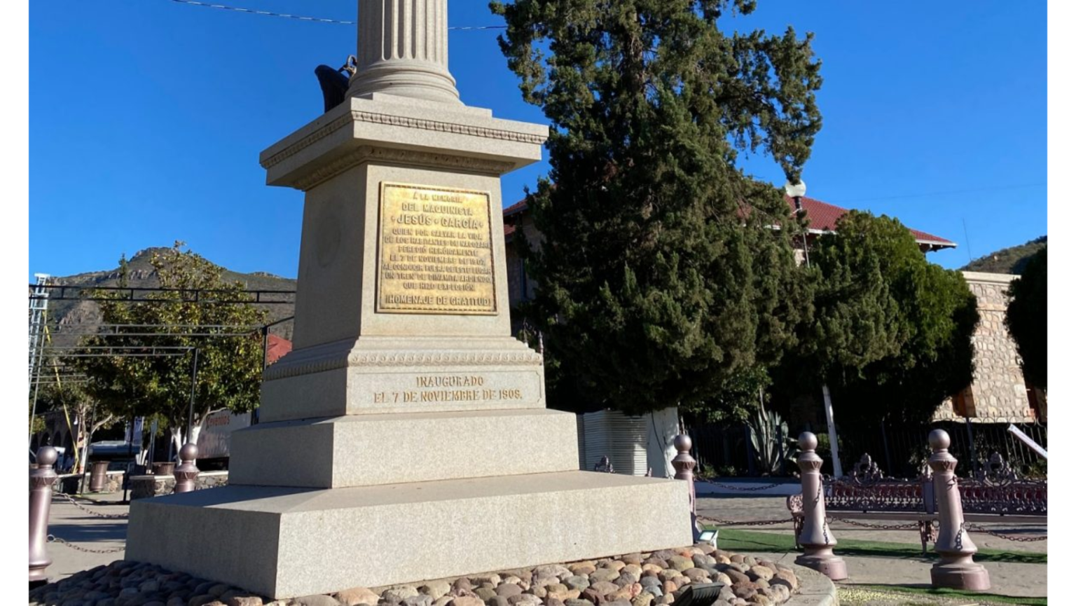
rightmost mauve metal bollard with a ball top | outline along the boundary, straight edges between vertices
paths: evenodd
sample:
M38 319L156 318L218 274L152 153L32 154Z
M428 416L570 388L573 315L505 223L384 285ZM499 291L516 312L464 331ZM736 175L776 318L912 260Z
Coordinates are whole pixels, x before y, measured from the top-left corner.
M979 550L964 530L964 507L957 485L957 457L949 454L949 434L934 429L930 435L928 465L934 471L934 494L938 505L938 538L934 551L942 556L931 568L931 584L968 591L990 589L990 574L972 556Z

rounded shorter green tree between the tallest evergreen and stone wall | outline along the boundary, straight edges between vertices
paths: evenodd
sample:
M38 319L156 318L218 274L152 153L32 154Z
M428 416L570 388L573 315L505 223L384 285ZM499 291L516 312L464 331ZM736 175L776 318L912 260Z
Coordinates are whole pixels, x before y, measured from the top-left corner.
M925 421L974 371L975 295L926 260L895 219L852 211L819 238L815 319L789 358L785 392L826 382L838 419Z

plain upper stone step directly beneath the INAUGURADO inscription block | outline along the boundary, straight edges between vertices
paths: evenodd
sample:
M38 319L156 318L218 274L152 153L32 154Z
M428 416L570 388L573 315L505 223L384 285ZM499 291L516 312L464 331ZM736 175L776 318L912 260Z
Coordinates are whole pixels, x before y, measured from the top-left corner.
M571 471L578 449L576 415L544 408L261 423L231 435L229 483L327 489Z

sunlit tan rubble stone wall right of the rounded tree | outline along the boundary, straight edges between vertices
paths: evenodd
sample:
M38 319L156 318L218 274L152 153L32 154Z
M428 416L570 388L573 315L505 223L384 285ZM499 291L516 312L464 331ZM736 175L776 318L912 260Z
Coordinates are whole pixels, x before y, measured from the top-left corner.
M963 409L964 415L973 421L1025 423L1036 420L1036 412L1028 399L1016 342L1005 326L1009 300L1005 292L1016 278L1007 273L964 272L979 309L979 326L972 337L975 375L966 390L942 405L936 419L962 417ZM1045 415L1038 420L1045 421Z

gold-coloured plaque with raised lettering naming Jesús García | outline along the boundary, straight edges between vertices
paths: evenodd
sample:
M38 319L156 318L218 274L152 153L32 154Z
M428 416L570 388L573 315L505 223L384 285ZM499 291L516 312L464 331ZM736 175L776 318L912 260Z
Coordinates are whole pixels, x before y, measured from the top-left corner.
M381 313L496 315L490 194L381 184Z

